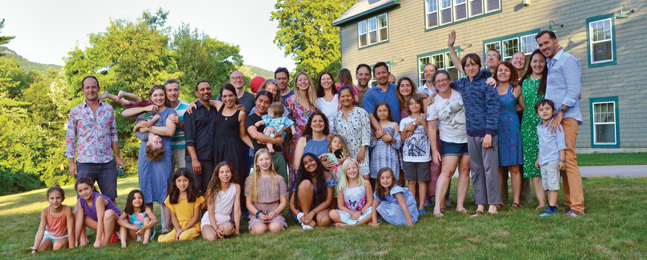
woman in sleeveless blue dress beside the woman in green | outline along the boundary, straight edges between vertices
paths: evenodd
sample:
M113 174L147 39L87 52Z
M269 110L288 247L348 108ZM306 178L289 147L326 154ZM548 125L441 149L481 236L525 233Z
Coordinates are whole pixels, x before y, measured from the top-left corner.
M521 96L521 88L515 86L518 82L516 69L510 62L499 64L494 73L497 80L496 90L499 92L499 187L504 187L501 182L503 174L508 174L512 179L512 193L514 199L512 209L519 207L521 194L521 174L519 166L523 165L523 150L521 149L521 131L519 116L517 116L517 100ZM507 170L506 170L507 168ZM507 191L505 191L507 192ZM504 191L501 191L504 193ZM502 201L505 204L505 201Z

